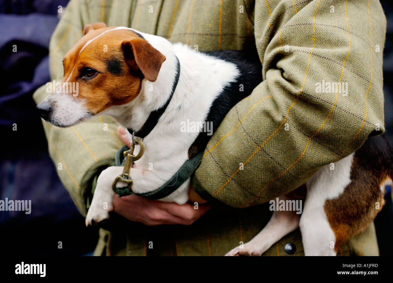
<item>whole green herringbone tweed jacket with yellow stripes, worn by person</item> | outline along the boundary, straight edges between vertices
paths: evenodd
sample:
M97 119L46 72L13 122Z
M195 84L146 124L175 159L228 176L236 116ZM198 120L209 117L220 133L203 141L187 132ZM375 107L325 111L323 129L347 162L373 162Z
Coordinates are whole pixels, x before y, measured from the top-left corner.
M222 121L193 178L217 205L191 226L101 228L97 255L223 255L264 227L266 202L384 131L386 18L377 0L72 0L50 42L52 79L62 78L61 59L84 25L100 21L200 51L256 52L263 81ZM34 99L46 95L42 86ZM97 175L122 146L118 126L105 116L67 129L43 124L59 176L86 215ZM304 254L296 230L264 255L288 255L286 243ZM378 255L373 224L338 251L350 254Z

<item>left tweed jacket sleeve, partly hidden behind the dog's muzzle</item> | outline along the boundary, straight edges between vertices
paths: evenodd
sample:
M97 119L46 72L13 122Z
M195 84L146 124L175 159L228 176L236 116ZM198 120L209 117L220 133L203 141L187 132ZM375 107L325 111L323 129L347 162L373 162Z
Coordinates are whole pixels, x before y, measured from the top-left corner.
M87 7L86 2L72 0L63 11L50 41L50 74L61 81L64 54L83 36L85 24L102 21L100 6ZM36 103L48 95L48 84L33 94ZM86 215L92 197L92 183L108 165L114 164L116 151L123 145L117 138L114 119L103 116L75 125L59 128L42 120L50 156L58 169L60 180L70 193L82 215Z

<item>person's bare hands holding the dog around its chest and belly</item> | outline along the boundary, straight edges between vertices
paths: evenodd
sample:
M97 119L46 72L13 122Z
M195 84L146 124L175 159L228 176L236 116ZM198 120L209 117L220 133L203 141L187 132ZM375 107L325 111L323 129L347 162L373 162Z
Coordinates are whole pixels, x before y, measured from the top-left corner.
M119 127L118 135L125 145L131 146L130 135L127 130ZM160 224L190 225L208 211L210 206L202 204L206 200L200 198L193 189L190 190L189 196L193 202L198 202L198 209L194 209L194 205L191 204L180 205L173 202L161 202L138 197L137 195L121 198L115 195L113 206L114 211L121 216L149 226Z

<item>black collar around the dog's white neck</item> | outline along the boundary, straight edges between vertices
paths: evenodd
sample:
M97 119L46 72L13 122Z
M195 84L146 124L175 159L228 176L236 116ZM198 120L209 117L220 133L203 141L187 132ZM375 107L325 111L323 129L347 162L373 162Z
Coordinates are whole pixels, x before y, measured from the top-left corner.
M168 107L169 103L171 102L172 96L174 94L174 91L176 90L176 86L180 77L180 62L176 55L174 57L176 58L176 77L174 79L174 84L172 86L171 94L169 95L169 98L165 103L165 105L163 105L163 107L154 110L150 113L149 118L147 118L145 124L138 132L134 132L134 130L132 129L127 129L130 133L134 132L134 135L137 137L143 139L145 136L150 134L150 132L154 129L154 127L156 127L158 120L160 120L162 114L165 112L165 109Z

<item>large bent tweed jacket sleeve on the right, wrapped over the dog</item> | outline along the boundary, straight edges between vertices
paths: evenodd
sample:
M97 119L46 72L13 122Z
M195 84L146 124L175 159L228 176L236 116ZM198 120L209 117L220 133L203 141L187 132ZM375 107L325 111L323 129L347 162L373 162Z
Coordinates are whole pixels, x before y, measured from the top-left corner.
M257 0L254 21L263 81L222 121L193 179L202 198L238 208L292 191L384 132L379 1Z

